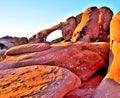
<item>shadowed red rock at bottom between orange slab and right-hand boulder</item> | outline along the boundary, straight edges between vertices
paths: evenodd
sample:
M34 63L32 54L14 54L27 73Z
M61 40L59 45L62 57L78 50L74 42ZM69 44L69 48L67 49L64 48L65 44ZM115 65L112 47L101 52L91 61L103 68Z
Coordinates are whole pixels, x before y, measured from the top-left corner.
M103 79L103 75L96 75L81 86L64 96L64 98L91 98L95 88Z

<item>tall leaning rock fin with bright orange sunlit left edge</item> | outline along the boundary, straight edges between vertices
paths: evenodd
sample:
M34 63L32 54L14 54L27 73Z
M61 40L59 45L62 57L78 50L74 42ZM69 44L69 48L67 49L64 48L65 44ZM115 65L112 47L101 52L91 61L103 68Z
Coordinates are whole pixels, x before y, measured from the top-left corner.
M89 35L91 41L95 41L99 34L99 9L97 7L90 7L85 10L82 15L81 22L73 32L71 41L76 42L79 38Z

